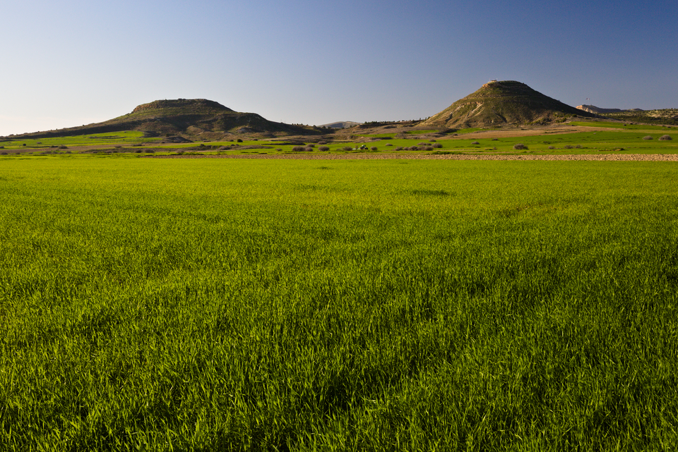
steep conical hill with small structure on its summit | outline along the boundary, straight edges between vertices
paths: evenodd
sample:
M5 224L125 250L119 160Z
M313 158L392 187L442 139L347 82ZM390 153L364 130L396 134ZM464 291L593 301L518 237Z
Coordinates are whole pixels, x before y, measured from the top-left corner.
M566 116L595 117L513 80L485 83L421 126L491 127L501 124L549 123Z

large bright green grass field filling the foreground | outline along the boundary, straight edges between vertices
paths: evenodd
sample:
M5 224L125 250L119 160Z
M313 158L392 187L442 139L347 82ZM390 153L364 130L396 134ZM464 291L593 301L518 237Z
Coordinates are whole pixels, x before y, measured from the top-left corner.
M676 448L677 178L0 159L0 449Z

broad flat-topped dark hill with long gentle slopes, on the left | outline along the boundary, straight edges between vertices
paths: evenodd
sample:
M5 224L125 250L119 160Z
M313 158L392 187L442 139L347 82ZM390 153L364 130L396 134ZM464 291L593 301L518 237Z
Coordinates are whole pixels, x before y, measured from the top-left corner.
M187 139L215 139L227 135L316 135L319 128L275 123L255 113L240 113L208 99L156 100L129 114L88 126L27 133L27 138L49 138L92 133L141 130L148 136L177 135Z

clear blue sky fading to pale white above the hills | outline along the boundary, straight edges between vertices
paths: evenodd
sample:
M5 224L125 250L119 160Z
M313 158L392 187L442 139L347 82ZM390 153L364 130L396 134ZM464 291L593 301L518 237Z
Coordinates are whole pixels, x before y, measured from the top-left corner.
M320 125L432 116L488 80L678 108L678 1L0 0L0 135L205 98Z

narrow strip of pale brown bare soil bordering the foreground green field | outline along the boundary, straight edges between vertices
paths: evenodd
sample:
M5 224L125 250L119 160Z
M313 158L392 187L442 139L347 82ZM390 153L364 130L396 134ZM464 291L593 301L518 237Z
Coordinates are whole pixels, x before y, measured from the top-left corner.
M234 154L234 155L158 155L151 159L304 159L304 160L598 160L598 161L678 161L678 154L562 154L562 155L501 155L501 154Z

